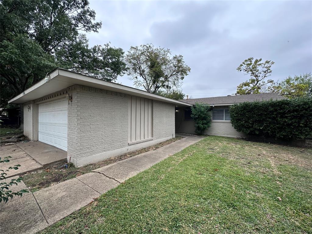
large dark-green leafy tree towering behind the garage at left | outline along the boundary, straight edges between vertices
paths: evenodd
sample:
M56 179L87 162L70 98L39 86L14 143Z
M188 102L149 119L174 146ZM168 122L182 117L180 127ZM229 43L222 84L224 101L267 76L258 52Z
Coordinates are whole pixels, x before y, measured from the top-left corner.
M81 34L102 25L87 0L1 0L0 20L1 106L56 67L109 81L126 70L121 48Z

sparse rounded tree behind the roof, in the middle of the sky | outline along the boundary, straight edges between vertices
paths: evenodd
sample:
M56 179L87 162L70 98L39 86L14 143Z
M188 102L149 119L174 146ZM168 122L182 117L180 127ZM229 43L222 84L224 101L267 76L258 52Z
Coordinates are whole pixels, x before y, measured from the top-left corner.
M126 56L127 75L137 88L150 93L169 91L181 85L191 71L182 55L171 57L169 49L152 44L131 46Z

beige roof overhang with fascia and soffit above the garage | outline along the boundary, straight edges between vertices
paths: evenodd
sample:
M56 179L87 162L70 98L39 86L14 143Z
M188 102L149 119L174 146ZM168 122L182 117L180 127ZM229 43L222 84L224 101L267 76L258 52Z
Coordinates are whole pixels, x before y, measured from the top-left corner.
M72 85L85 85L97 89L110 90L114 92L124 93L128 95L139 96L157 101L168 102L176 105L176 107L193 106L186 102L173 100L160 95L149 93L143 90L131 88L125 85L119 85L94 77L85 76L76 72L68 71L63 68L57 68L51 71L47 76L32 85L30 88L8 101L8 103L23 104L46 95L55 93L59 90L66 89Z

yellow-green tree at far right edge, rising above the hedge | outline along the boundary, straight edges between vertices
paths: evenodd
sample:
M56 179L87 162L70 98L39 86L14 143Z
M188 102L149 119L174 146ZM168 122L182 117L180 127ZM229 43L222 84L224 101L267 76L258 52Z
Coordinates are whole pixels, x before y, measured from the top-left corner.
M312 96L312 74L289 76L281 82L277 82L268 88L269 92L278 93L287 98Z

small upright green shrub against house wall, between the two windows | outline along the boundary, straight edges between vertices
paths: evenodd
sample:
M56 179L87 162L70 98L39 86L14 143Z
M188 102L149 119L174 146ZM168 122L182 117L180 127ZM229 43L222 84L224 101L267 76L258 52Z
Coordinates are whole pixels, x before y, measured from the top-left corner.
M195 106L191 107L191 110L191 116L195 121L195 132L197 134L203 134L211 125L210 106L202 103L195 103Z

